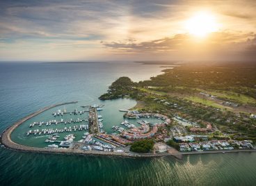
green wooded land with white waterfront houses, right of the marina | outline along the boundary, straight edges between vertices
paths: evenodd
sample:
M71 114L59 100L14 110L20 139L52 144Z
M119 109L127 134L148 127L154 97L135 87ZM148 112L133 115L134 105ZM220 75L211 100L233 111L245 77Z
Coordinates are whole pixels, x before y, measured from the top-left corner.
M183 154L255 151L255 64L187 63L163 71L138 83L120 77L99 99L136 99L128 118L165 115L170 122L152 139Z

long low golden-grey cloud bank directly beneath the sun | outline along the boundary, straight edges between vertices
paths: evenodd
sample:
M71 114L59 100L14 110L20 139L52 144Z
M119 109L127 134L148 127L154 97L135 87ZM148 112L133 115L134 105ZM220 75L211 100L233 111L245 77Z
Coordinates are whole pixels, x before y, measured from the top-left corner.
M211 33L209 37L202 41L207 45L227 45L234 43L243 43L246 40L255 37L254 33L229 33L229 32L216 32ZM109 47L114 50L122 49L127 51L170 51L179 50L191 44L197 44L201 39L195 40L193 36L189 34L177 34L173 37L164 37L159 40L151 40L147 42L137 42L136 40L124 40L119 42L102 42L105 47Z

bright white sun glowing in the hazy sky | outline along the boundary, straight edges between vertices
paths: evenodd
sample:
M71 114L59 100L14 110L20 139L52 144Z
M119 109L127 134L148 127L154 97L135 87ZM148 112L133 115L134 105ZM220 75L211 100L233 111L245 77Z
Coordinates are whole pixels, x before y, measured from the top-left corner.
M205 37L209 33L218 31L216 17L210 12L197 12L187 20L186 30L196 37Z

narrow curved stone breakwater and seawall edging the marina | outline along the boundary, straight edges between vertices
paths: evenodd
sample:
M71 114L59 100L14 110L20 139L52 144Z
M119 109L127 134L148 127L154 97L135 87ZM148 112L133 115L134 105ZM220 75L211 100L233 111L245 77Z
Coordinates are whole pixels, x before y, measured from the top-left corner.
M24 117L23 119L19 119L15 122L15 124L9 126L6 128L6 130L3 131L0 137L1 144L3 144L4 147L7 149L11 149L14 151L22 151L22 152L29 152L29 153L51 153L51 154L73 154L73 155L107 155L107 156L117 156L117 157L126 157L126 158L154 158L154 157L163 157L163 156L173 156L174 158L177 158L179 160L182 159L182 155L194 155L194 154L204 154L204 153L237 153L237 152L256 152L256 149L234 149L234 150L219 150L219 151L200 151L200 152L179 152L175 151L174 153L118 153L118 152L103 152L103 151L82 151L79 149L45 149L40 147L33 147L33 146L25 146L22 144L17 144L11 140L11 133L15 128L17 128L19 125L23 124L24 121L27 121L28 119L31 119L32 117L35 117L36 115L39 115L42 112L45 112L46 110L49 110L51 108L57 107L59 105L66 105L66 104L72 104L77 103L77 101L72 102L66 102L66 103L59 103L55 105L50 105L46 108L42 108L36 112L33 112L31 115L28 115Z

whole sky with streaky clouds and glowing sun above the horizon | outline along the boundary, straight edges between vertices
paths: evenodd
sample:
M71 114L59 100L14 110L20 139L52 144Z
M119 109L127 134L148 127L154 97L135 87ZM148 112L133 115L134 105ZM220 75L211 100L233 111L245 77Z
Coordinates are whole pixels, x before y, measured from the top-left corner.
M0 0L0 60L254 60L255 10L255 0Z

